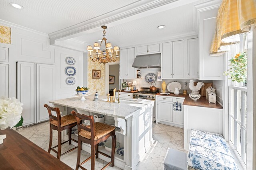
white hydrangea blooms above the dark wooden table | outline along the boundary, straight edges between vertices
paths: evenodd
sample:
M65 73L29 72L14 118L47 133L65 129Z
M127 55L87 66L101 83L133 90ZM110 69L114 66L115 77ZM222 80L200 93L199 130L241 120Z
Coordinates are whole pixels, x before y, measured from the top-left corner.
M23 123L21 116L23 104L16 98L0 98L0 129L19 127Z

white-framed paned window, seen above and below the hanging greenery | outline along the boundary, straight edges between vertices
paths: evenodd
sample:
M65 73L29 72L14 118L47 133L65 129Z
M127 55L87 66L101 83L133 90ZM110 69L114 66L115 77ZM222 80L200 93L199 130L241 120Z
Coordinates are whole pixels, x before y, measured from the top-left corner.
M247 45L246 35L240 36L241 43L231 47L230 58L239 52L245 52L243 48ZM247 141L247 88L246 83L228 82L228 142L234 150L242 166L246 168L246 141Z

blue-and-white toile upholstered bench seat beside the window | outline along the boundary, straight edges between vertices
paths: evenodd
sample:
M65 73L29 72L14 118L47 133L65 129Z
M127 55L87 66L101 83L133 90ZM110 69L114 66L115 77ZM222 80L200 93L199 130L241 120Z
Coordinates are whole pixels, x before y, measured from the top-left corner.
M238 167L222 135L191 129L188 169L238 170Z

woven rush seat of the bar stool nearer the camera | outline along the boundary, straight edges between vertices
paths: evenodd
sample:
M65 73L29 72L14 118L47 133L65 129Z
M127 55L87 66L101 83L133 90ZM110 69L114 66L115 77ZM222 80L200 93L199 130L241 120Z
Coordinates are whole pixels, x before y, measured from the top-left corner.
M90 125L86 126L87 128L91 128ZM110 133L111 131L113 131L114 129L116 129L116 127L111 126L111 125L107 125L104 123L100 123L100 122L96 122L94 123L94 129L95 129L95 137L94 140L100 139L101 137L103 137L104 135ZM79 135L82 137L85 137L87 139L91 139L91 132L86 131L84 129L81 129L81 131L79 132Z

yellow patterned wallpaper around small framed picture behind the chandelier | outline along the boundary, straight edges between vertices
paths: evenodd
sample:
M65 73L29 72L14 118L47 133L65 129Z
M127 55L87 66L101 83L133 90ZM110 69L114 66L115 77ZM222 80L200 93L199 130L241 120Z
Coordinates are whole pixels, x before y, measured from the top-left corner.
M118 54L119 55L119 54ZM115 53L113 54L115 56ZM96 57L95 51L92 52L92 57ZM116 57L115 57L116 58ZM117 59L119 61L119 58ZM100 70L100 78L92 78L92 70ZM104 82L105 82L105 66L104 64L100 64L98 61L91 61L90 57L88 57L88 85L90 88L90 93L95 93L97 90L99 95L104 95Z

